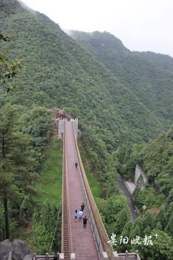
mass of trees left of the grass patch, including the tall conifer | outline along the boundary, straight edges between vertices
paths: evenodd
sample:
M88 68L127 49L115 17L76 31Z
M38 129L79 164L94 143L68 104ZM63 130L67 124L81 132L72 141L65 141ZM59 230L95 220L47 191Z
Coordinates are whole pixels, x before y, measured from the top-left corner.
M45 125L43 127L40 120L47 118L48 124L51 114L44 108L26 111L22 106L7 103L0 109L0 115L0 199L6 212L2 230L4 232L5 225L6 237L9 237L11 231L10 238L13 238L16 236L16 226L26 227L32 219L34 202L29 194L37 194L34 183L38 175L35 170L38 169L39 160L42 158L37 154L44 151L51 127L51 124L47 125L47 128ZM34 118L38 120L34 121ZM30 123L33 131L37 128L36 137L33 132L27 131ZM41 131L42 127L44 131ZM42 140L40 149L34 145L36 138ZM1 234L0 239L2 238L4 233Z

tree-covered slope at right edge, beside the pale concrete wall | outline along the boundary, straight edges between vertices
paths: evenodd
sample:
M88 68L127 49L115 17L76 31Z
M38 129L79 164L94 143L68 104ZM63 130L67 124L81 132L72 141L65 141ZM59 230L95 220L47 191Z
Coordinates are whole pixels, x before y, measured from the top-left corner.
M160 191L173 187L173 126L141 151L141 166Z

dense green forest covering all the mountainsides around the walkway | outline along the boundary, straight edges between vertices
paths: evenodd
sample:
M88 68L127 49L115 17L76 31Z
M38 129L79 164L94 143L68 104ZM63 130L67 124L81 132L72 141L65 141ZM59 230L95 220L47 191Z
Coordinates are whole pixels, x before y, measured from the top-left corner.
M30 244L39 244L38 253L48 249L58 209L46 200L44 209L53 216L47 219L31 195L39 196L35 180L46 159L51 108L63 106L79 119L80 142L101 186L96 203L108 235L143 237L157 230L154 247L137 248L141 259L171 259L172 58L131 52L106 32L73 32L77 42L19 3L1 14L0 28L0 68L7 64L11 73L0 74L0 239L20 236L16 230L33 221ZM136 163L150 178L145 191L135 190L137 206L160 211L131 223L118 177L133 178ZM136 248L116 250L125 249Z

